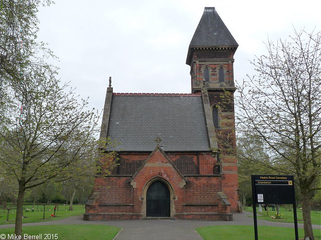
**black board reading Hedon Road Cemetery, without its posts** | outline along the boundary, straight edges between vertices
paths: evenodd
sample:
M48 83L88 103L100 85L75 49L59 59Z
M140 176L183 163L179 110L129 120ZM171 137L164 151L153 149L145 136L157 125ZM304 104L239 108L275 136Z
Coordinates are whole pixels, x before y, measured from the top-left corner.
M293 204L292 175L253 175L257 204ZM253 187L253 186L252 186Z

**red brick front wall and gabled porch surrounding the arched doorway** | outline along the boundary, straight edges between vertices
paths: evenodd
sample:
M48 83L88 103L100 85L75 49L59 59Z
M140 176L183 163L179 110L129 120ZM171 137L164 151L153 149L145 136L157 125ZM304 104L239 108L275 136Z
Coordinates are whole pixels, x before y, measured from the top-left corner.
M126 160L142 160L146 154L121 155ZM197 163L196 153L169 154L174 162L179 159L190 159ZM199 161L215 161L210 153L199 154ZM146 164L147 163L147 164ZM140 171L133 176L106 176L96 177L93 192L99 192L99 198L94 205L86 205L84 219L137 219L142 217L143 190L147 182L154 177L162 178L172 189L175 199L174 217L182 219L221 219L231 220L231 208L222 206L217 199L217 192L224 190L227 194L233 192L234 185L229 185L227 175L190 175L182 186L182 177L166 156L159 150L149 157ZM202 172L207 174L208 172ZM133 185L130 184L131 182ZM229 199L230 200L230 199Z

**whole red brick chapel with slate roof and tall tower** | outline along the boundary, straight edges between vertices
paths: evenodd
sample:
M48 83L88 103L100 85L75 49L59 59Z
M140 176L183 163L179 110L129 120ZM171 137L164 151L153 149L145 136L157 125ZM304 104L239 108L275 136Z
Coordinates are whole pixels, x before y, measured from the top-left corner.
M191 93L116 93L110 80L100 137L119 142L119 165L95 177L84 220L233 220L237 47L215 7L205 7L186 59Z

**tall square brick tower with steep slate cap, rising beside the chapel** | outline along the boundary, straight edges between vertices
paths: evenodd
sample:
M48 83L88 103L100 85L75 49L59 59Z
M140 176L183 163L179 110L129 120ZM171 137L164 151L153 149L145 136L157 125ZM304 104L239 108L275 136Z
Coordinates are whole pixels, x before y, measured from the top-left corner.
M209 104L204 104L207 127L209 132L215 129L210 138L216 137L218 161L224 173L222 184L233 210L238 209L233 73L237 47L215 7L205 7L191 40L186 64L191 66L192 93L202 92L203 98L206 95L209 98Z

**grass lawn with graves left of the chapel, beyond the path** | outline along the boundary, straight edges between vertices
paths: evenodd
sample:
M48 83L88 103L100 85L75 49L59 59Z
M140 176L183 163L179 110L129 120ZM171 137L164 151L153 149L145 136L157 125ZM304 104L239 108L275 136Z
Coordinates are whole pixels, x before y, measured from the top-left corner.
M76 215L81 215L85 213L85 206L84 205L73 205L72 211L69 211L69 205L64 206L64 205L58 205L58 210L56 209L56 217L52 217L51 214L54 212L54 205L48 205L46 206L46 211L45 211L45 219L44 217L44 212L41 211L43 209L43 206L40 205L39 207L35 205L35 211L25 211L24 210L24 219L23 223L27 222L41 222L41 221L51 221L51 220L58 220L58 219L63 219L69 216L76 216ZM29 208L30 210L32 209L32 205L26 205L24 207ZM49 211L50 209L50 211ZM0 224L10 224L10 223L15 223L16 220L16 210L13 209L13 212L9 213L9 222L7 222L7 210L0 210Z

